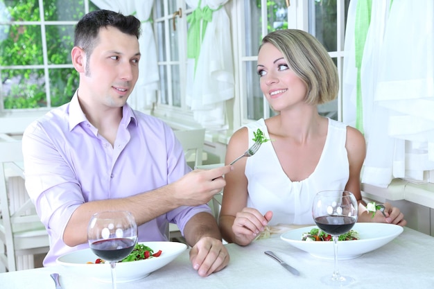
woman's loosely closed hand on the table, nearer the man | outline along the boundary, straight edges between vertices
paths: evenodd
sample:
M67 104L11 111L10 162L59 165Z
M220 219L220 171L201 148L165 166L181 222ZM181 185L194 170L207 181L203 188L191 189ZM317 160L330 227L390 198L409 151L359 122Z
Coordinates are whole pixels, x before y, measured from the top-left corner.
M272 218L272 211L268 211L264 216L253 208L244 208L236 213L232 231L234 232L234 242L238 245L248 245L256 238L268 225Z

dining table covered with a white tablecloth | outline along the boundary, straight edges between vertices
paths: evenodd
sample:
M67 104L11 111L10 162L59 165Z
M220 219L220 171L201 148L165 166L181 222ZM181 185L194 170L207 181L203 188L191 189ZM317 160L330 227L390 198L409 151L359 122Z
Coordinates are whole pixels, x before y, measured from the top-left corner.
M351 242L351 241L349 241ZM200 277L192 268L189 249L168 265L137 281L117 288L331 288L320 279L332 274L333 260L320 259L277 236L255 240L247 246L225 245L230 254L226 268ZM291 274L264 254L272 251L296 268ZM378 249L355 259L339 260L340 273L355 279L346 288L434 288L434 237L404 227L403 232ZM62 289L112 288L110 283L86 279L62 265L0 274L0 288L55 289L51 273L60 274Z

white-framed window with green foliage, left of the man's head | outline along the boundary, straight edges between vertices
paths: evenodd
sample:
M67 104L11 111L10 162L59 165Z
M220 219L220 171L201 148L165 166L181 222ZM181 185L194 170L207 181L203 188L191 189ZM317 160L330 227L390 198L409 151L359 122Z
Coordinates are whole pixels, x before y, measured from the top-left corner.
M0 110L56 107L78 86L73 27L89 0L0 0Z

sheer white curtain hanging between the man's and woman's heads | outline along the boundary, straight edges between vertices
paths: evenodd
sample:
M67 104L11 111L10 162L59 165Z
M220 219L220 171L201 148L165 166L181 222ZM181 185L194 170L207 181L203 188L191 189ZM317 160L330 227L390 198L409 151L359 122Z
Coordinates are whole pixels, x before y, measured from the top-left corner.
M188 60L186 84L186 102L191 107L195 120L204 128L211 130L227 128L225 100L234 97L230 22L224 8L228 1L186 0L192 8L201 9L198 11L200 15L209 17L211 14L211 21L207 22L205 33L200 40L198 62L195 63L196 60L193 58ZM209 8L211 13L209 13ZM197 20L198 17L196 17ZM200 21L196 25L200 25L203 29L205 22Z

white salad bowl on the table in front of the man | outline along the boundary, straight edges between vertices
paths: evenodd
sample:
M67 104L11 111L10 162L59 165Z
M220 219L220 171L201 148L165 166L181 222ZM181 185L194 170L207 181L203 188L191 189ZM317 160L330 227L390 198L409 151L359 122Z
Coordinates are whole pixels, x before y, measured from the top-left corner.
M146 260L130 261L116 263L116 283L135 281L147 277L150 273L171 263L186 249L184 243L177 242L139 242L151 249L154 253L162 250L162 254ZM105 283L112 282L110 263L94 263L98 258L91 249L81 249L60 256L56 261L58 264L66 267L70 272L75 273L78 277L87 277L102 281Z

